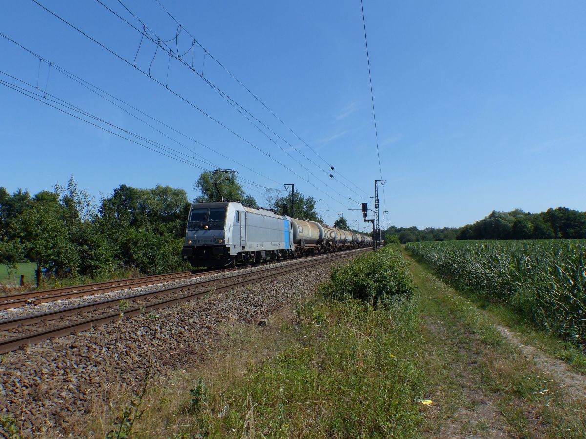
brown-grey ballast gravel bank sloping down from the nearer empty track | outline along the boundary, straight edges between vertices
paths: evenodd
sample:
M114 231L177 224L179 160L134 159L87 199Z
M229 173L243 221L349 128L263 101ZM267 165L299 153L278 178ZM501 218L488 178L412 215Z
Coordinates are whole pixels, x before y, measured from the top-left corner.
M83 426L92 410L107 406L126 389L138 389L146 371L160 376L189 366L220 336L221 324L258 323L290 303L295 294L314 291L328 279L329 268L340 262L5 354L0 364L0 414L11 416L23 437L87 435ZM146 288L154 287L142 290Z

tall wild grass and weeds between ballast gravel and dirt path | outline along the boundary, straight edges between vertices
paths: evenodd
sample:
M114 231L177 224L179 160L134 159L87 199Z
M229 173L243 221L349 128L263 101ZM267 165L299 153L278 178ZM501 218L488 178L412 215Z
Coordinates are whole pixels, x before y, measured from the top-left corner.
M400 290L411 291L400 262L381 276L401 272L406 284ZM386 291L373 307L372 300L332 300L332 291L328 284L299 302L292 324L278 330L274 321L262 328L243 325L231 340L230 355L209 362L201 375L183 371L189 373L183 380L154 387L145 396L147 409L135 433L417 436L423 422L420 401L427 395L417 311L408 295Z

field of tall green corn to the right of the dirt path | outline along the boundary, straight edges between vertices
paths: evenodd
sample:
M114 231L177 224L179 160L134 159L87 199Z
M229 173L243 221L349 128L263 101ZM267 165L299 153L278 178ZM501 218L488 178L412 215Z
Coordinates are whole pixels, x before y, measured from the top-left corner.
M407 250L457 286L586 348L586 241L410 242Z

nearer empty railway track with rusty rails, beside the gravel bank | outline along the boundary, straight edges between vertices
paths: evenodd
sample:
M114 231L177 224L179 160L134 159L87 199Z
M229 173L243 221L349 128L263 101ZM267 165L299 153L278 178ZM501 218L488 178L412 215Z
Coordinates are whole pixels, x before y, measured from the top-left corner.
M53 337L63 337L74 331L83 331L147 311L193 300L212 292L222 292L278 277L290 272L347 258L369 251L357 249L332 255L317 256L287 265L266 266L246 273L233 273L219 279L200 280L180 286L131 294L124 298L107 299L45 313L24 315L0 321L0 331L6 337L0 340L0 354L23 345L35 344ZM221 271L221 270L219 270ZM207 272L206 274L208 274ZM121 307L124 301L124 308Z

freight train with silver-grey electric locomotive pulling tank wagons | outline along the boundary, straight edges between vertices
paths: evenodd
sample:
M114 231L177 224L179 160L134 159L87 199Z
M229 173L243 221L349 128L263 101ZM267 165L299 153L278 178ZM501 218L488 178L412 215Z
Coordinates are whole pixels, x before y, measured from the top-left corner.
M225 267L370 245L370 236L227 201L192 204L181 256Z

